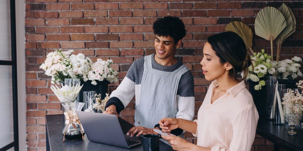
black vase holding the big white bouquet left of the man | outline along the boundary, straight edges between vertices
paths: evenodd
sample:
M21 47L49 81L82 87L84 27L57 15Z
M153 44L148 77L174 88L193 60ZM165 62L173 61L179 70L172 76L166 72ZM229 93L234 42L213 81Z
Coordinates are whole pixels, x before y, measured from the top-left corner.
M99 94L99 93L101 94L102 100L105 98L105 93L107 93L108 84L110 84L110 82L108 82L107 80L96 81L97 85L92 85L91 82L92 81L90 81L90 80L86 81L86 82L80 81L81 85L83 84L83 87L79 92L79 97L78 97L79 102L83 102L83 92L84 91L96 91L97 94Z

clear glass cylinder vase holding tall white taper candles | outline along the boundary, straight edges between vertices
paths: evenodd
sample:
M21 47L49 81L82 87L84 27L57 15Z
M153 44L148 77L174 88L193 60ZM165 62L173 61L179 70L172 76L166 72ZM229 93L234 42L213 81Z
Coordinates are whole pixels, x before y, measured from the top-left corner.
M275 93L273 100L273 123L283 125L285 122L284 111L283 111L283 100L285 93L285 84L274 84Z

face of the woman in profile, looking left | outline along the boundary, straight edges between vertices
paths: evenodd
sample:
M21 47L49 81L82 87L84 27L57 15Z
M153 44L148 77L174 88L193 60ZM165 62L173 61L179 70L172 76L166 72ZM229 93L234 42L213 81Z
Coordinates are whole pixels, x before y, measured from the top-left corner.
M211 48L211 45L206 42L203 48L203 59L200 64L202 65L202 72L205 79L213 81L223 76L228 72L227 63L221 63L219 57L215 54L215 51Z

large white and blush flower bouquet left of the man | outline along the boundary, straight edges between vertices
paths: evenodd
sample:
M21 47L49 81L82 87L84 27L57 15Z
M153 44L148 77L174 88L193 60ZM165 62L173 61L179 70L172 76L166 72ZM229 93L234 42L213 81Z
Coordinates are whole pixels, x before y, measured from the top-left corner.
M78 78L83 81L92 80L96 85L98 81L107 80L109 82L118 81L118 72L112 69L113 61L97 59L95 63L84 54L72 54L74 50L55 50L47 54L45 62L40 69L45 74L52 77L52 84L63 82L67 78Z

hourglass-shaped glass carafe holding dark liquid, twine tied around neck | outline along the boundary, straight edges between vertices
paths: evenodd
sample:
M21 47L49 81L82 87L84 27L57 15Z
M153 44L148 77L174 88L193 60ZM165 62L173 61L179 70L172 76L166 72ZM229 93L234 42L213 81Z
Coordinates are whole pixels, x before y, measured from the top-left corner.
M85 131L80 124L79 118L76 115L76 111L81 111L85 103L72 102L63 103L62 106L65 108L65 114L67 115L65 121L65 127L62 130L63 141L66 140L80 140L84 138Z

